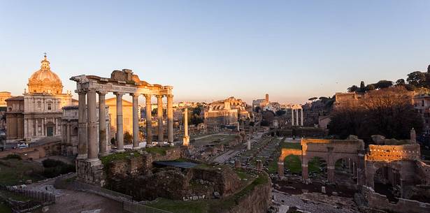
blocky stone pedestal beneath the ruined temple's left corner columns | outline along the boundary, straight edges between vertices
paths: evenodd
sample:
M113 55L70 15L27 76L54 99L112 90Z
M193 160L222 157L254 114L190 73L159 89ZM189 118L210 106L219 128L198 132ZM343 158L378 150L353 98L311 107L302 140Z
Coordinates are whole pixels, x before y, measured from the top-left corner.
M103 165L99 159L76 160L76 172L78 173L78 181L96 186L103 186L105 180L103 177Z

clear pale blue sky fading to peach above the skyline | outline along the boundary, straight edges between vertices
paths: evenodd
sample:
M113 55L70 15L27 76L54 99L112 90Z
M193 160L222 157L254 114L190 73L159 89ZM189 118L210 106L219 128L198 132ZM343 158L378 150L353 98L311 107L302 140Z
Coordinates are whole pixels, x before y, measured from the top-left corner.
M0 91L48 52L72 75L130 68L175 101L301 103L430 64L430 1L0 1Z

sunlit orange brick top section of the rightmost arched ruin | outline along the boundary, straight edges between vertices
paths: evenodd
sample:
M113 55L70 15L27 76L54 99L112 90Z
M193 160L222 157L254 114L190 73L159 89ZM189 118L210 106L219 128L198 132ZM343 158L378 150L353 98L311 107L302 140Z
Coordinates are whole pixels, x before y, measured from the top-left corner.
M366 160L369 161L401 161L420 160L420 145L368 145Z

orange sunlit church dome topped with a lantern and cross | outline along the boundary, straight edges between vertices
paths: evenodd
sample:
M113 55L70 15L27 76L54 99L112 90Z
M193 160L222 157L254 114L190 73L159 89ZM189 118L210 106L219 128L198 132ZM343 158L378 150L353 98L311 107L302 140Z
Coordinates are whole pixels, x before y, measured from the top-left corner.
M62 94L62 80L51 71L49 64L45 55L41 61L41 68L29 78L29 93Z

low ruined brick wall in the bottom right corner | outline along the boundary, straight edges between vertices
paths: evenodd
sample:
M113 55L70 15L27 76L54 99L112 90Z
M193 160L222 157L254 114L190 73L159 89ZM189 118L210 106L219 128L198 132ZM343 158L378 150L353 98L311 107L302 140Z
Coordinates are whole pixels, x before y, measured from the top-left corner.
M371 187L363 186L361 193L367 200L368 206L379 209L389 210L390 212L422 213L430 212L430 203L422 203L417 200L399 198L397 203L390 203L387 196L373 191Z

